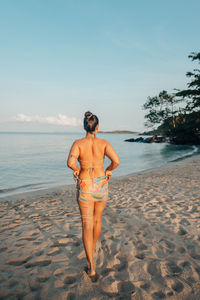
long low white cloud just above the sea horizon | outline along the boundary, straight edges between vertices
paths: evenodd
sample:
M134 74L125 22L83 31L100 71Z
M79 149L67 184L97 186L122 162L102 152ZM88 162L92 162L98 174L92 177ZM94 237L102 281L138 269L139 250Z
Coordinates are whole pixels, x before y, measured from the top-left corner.
M13 118L17 122L23 123L42 123L42 124L52 124L60 126L79 126L81 121L74 117L68 117L66 115L58 114L57 117L41 117L39 115L28 116L25 114L18 114Z

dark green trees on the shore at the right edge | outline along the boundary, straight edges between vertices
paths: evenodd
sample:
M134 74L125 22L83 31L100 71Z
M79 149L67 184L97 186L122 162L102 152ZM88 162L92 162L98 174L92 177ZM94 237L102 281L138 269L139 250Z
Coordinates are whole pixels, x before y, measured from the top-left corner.
M191 53L189 58L200 62L200 52ZM200 70L194 69L193 72L187 72L186 76L191 78L188 89L178 90L175 94L162 91L158 96L147 98L143 105L143 109L147 111L145 126L169 137L193 136L199 140ZM185 107L178 107L179 102L184 102ZM158 126L157 129L155 125Z

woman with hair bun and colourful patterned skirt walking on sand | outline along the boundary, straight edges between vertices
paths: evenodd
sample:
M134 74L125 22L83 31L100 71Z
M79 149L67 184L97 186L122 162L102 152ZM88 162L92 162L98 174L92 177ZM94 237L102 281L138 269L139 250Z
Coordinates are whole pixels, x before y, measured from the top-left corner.
M82 236L88 267L86 272L92 282L96 282L98 274L95 272L93 254L96 242L101 233L101 216L108 198L108 181L120 163L113 147L106 141L96 137L99 120L91 112L84 117L86 136L76 140L70 150L67 165L74 171L77 181L77 201L82 217ZM111 160L111 164L104 171L104 156ZM77 166L80 163L80 169Z

